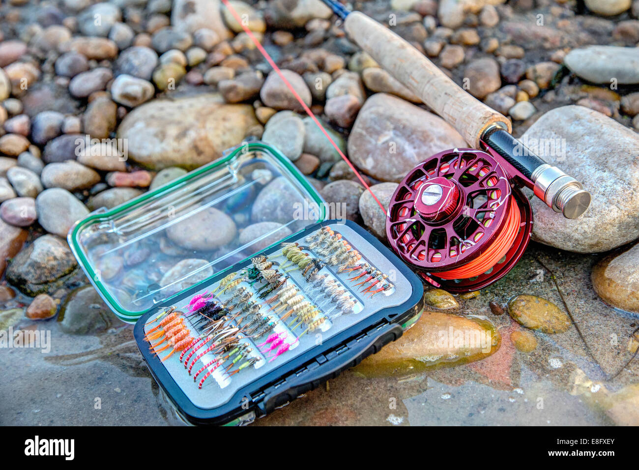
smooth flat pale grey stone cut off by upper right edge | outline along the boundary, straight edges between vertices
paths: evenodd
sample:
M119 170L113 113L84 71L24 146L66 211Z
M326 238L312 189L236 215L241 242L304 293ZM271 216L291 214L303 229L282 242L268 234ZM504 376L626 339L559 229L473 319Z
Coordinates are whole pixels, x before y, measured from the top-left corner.
M564 64L574 74L594 83L639 83L639 50L636 47L591 45L568 52Z

